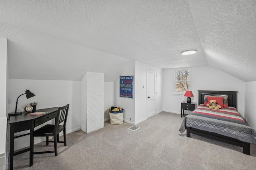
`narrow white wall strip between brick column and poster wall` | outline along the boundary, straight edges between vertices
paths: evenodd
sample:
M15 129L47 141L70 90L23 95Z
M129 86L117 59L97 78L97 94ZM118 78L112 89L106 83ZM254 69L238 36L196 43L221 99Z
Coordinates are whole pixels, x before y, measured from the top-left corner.
M110 120L108 108L115 106L115 83L104 82L104 121Z

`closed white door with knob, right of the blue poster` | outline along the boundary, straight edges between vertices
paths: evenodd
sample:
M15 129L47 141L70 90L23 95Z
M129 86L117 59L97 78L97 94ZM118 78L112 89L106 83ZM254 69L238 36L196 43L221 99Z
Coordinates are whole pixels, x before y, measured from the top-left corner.
M156 71L148 69L147 77L147 117L156 115Z

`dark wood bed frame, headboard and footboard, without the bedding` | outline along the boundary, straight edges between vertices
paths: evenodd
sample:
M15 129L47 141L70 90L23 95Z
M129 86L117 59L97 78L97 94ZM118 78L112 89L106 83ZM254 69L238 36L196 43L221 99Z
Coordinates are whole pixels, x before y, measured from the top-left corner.
M236 107L236 97L237 91L206 91L206 90L198 90L198 105L204 104L204 95L228 95L228 106ZM237 108L237 107L236 107ZM192 127L186 127L187 136L190 137L190 134L197 134L200 136L204 136L207 138L212 138L214 140L219 140L222 142L226 142L229 144L234 144L236 146L243 147L243 153L250 155L250 143L242 142L240 140L230 138L227 136L223 136L213 132L207 132L204 130L199 130Z

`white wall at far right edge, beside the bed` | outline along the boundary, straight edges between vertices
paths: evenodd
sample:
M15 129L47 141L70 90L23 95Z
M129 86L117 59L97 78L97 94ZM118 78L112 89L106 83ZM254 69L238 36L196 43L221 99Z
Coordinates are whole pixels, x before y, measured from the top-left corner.
M245 83L245 101L244 101L244 117L247 117L247 123L256 129L255 101L256 81Z

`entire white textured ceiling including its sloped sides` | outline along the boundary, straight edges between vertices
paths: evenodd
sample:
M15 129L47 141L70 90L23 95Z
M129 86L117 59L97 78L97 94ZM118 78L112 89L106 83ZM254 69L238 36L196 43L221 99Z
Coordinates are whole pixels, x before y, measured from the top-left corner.
M254 0L0 0L9 77L114 81L134 61L256 81ZM181 51L196 49L192 55Z

